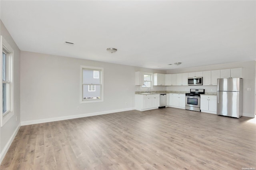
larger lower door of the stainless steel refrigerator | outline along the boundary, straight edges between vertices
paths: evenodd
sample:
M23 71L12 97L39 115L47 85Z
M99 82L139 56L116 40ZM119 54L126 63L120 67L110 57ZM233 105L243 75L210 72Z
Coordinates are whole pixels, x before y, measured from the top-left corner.
M242 105L239 102L239 92L217 92L217 115L239 118L242 115Z

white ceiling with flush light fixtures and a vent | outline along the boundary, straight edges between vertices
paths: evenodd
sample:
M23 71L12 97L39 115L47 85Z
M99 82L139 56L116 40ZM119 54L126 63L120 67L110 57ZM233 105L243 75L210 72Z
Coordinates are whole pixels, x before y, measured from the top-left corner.
M0 3L22 51L164 70L256 60L256 1Z

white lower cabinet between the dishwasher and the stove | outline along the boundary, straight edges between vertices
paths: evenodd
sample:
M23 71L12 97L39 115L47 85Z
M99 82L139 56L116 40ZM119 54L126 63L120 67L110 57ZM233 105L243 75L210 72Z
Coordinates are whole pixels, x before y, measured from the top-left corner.
M170 93L169 107L185 109L185 94Z

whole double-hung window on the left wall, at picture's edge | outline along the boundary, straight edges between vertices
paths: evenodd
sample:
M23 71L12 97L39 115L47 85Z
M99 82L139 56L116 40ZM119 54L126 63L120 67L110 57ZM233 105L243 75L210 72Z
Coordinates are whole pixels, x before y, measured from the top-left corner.
M12 56L13 50L8 43L1 36L1 126L3 126L12 116L12 103L13 103L13 85L12 85Z

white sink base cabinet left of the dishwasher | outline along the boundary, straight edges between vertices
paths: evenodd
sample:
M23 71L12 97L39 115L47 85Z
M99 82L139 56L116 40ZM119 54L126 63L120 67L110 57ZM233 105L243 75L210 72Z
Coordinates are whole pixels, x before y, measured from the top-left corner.
M158 109L160 106L160 95L135 95L135 109L138 111L146 111L150 109Z

